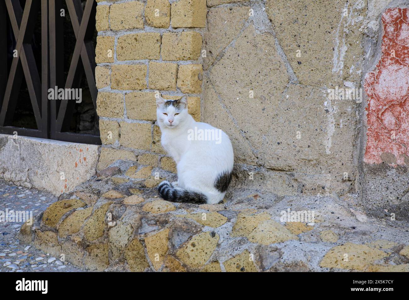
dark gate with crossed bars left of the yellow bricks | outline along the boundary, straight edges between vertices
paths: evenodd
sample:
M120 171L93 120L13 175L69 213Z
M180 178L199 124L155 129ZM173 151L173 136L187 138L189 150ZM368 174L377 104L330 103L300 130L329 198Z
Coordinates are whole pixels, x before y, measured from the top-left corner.
M101 144L96 135L69 132L75 100L48 100L48 90L54 87L78 89L85 73L94 108L97 107L95 84L95 31L97 3L86 0L65 0L76 44L67 79L64 79L63 0L0 0L0 133L49 138L69 142ZM31 47L34 25L41 13L41 79ZM7 15L16 40L16 57L7 66ZM81 59L82 65L79 64ZM83 66L83 67L82 67ZM8 71L9 70L9 71ZM11 126L23 76L27 82L37 129ZM65 82L64 82L65 80Z

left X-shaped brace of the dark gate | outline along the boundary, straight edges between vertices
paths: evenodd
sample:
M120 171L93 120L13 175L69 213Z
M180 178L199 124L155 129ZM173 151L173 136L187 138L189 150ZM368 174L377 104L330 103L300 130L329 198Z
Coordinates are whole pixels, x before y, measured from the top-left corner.
M15 50L17 51L17 57L14 57L11 63L7 87L0 111L0 126L4 126L5 122L10 122L13 118L22 82L22 72L24 71L37 128L40 130L41 81L38 75L33 49L31 48L31 40L40 1L27 0L23 12L18 0L5 1L7 11L9 12L11 27L16 37Z

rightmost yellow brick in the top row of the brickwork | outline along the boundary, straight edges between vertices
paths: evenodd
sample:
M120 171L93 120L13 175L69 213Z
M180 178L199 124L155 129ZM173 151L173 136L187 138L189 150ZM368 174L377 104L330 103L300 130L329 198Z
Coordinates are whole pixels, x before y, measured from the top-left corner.
M172 27L205 27L206 0L179 0L172 3Z

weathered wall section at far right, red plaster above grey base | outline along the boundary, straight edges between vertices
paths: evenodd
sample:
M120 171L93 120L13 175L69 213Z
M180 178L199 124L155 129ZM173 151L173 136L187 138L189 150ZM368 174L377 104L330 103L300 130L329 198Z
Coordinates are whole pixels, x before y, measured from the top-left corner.
M362 202L383 218L409 216L409 2L388 1L366 38Z

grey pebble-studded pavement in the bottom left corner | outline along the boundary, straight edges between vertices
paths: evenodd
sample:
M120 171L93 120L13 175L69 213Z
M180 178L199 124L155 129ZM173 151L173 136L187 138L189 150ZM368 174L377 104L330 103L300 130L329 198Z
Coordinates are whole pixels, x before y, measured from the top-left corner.
M27 189L0 180L0 217L8 212L32 212L34 219L57 197L45 191ZM12 213L10 215L10 213ZM62 262L58 257L39 251L33 246L20 244L17 233L24 222L1 219L0 222L0 272L81 272L86 271Z

